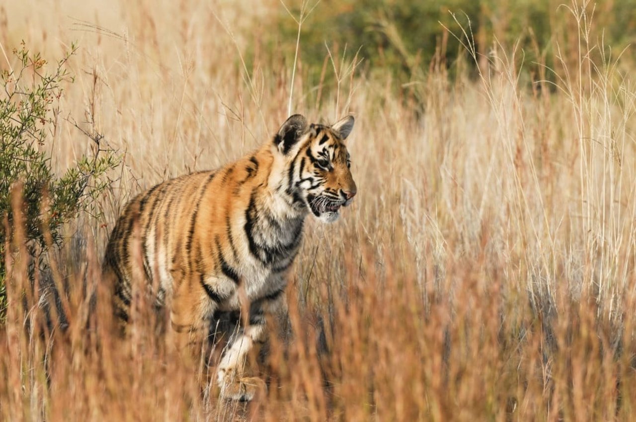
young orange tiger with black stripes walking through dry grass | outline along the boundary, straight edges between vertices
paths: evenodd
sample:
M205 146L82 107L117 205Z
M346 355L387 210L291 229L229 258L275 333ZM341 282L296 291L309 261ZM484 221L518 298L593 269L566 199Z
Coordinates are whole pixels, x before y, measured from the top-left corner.
M255 152L134 197L104 256L117 318L126 325L139 278L155 286L158 306L167 306L167 329L181 351L207 339L214 313L244 310L239 334L220 356L216 382L222 397L252 400L265 384L246 376L245 359L266 341L266 318L285 309L305 219L334 222L357 193L345 146L353 127L352 115L324 125L296 114ZM136 260L135 240L141 243Z

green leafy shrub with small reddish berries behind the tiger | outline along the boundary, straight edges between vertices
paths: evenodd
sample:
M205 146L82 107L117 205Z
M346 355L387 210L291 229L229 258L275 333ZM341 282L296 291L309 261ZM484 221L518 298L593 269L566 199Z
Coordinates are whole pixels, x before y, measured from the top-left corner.
M95 211L97 195L109 186L104 176L119 161L114 151L100 146L99 134L84 132L93 143L92 155L79 158L61 176L52 169L48 150L58 127L63 86L73 82L66 64L76 50L71 45L71 51L48 71L46 60L30 53L23 42L13 50L18 66L0 74L0 222L8 221L11 231L11 191L19 181L24 196L24 240L30 251L46 250L47 232L59 246L64 223L78 213ZM43 204L44 197L48 204ZM4 254L9 236L4 223L0 224L0 321L6 307Z

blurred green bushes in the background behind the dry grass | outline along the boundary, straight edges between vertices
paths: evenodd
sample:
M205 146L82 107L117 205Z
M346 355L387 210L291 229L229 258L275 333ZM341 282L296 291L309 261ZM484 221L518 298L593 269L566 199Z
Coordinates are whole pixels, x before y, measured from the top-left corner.
M308 11L315 2L304 4ZM272 27L263 31L265 36L259 34L261 43L274 50L289 51L296 42L298 25L288 11L298 18L301 5L286 5L288 10L279 8ZM461 26L474 39L482 69L496 46L517 52L515 60L523 62L526 80L551 80L551 72L543 72L545 66L553 69L579 62L579 31L572 14L576 15L576 8L581 11L581 6L581 2L563 0L322 0L303 24L301 60L310 83L316 85L325 74L321 69L326 65L327 46L334 56L345 49L352 56L359 49L368 76L384 77L388 71L398 84L420 80L431 66L446 67L453 75L467 52L445 27L466 43ZM592 18L582 23L603 37L591 39L590 44L611 45L616 58L636 39L632 0L588 2L583 7L588 20ZM474 70L476 65L467 63Z

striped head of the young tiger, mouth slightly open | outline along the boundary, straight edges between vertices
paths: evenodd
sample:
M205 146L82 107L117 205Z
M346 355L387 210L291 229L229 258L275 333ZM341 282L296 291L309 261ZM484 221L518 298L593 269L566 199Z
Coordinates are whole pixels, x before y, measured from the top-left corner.
M275 150L284 161L287 195L294 206L322 222L337 220L340 207L348 206L357 192L344 143L353 127L353 116L327 126L308 125L304 116L293 115L274 137Z

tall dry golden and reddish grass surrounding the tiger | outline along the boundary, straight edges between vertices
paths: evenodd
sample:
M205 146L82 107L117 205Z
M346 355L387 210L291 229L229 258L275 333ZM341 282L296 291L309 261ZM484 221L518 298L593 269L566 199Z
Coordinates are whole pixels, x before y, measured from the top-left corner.
M83 131L121 158L46 271L29 270L19 218L5 223L0 419L634 420L633 49L605 44L602 10L564 1L550 66L515 43L473 50L457 10L439 28L439 51L462 41L457 59L408 83L356 39L326 39L309 68L303 31L327 0L304 20L273 0L0 4L0 70L22 40L49 67L78 45L41 145L52 166L92 151ZM298 46L266 41L270 22L293 22L286 6ZM249 153L293 113L355 116L358 194L336 223L308 218L288 313L269 321L268 390L224 402L183 370L144 295L118 337L100 262L136 193Z

